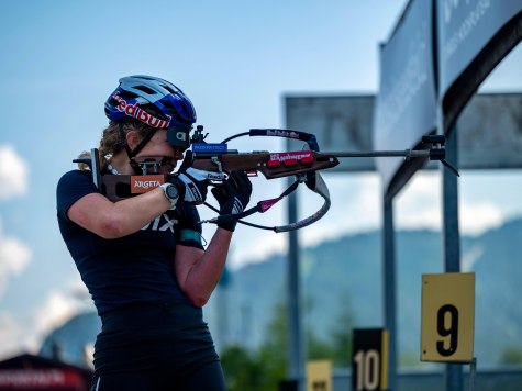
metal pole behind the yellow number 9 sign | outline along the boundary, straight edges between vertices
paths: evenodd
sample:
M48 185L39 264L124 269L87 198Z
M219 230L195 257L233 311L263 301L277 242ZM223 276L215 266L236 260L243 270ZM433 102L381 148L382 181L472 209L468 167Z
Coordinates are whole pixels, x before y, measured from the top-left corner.
M454 126L446 135L446 159L458 167L457 129ZM458 231L458 186L457 177L443 169L443 215L444 215L444 271L460 271L460 235ZM463 389L463 368L460 364L446 364L445 386L447 391Z

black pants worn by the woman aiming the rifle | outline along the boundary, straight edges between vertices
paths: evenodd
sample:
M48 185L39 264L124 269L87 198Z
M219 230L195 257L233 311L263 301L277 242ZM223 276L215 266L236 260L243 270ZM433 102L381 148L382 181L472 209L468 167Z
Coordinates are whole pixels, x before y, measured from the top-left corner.
M147 304L103 315L91 390L225 390L201 309Z

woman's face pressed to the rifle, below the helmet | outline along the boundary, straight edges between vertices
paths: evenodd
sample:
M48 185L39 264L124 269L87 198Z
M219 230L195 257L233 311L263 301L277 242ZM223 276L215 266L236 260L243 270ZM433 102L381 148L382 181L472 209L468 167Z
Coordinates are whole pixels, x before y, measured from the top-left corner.
M178 160L184 158L184 152L180 147L173 147L167 141L167 131L158 130L154 133L151 141L136 155L135 160L155 159L162 161L160 174L169 174L176 167Z

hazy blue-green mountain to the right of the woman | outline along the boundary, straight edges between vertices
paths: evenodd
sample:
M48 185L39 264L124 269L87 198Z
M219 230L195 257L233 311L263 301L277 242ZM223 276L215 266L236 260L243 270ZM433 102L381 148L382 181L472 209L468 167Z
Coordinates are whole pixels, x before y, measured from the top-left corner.
M463 236L462 271L476 273L475 356L479 365L499 362L502 351L522 351L522 219L480 236ZM443 238L434 231L396 233L397 322L399 356L419 361L421 279L444 271ZM359 233L301 249L303 325L327 340L343 327L381 327L382 265L380 231ZM206 317L218 346L238 343L255 348L266 325L286 300L286 258L275 255L230 273L214 294ZM223 316L226 321L223 322Z

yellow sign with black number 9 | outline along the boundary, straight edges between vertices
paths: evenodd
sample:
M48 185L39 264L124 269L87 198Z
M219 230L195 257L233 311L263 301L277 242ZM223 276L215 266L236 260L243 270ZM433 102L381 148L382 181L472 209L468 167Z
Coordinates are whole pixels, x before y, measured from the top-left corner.
M470 362L475 273L422 275L421 361Z

